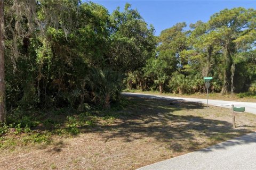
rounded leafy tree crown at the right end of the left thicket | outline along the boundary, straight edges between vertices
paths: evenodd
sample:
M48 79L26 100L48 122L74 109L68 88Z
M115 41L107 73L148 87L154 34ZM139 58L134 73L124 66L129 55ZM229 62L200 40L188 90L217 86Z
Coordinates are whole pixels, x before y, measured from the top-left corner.
M143 20L137 10L126 4L124 11L119 7L111 16L112 24L108 62L115 70L123 72L142 68L153 56L156 47L154 27Z

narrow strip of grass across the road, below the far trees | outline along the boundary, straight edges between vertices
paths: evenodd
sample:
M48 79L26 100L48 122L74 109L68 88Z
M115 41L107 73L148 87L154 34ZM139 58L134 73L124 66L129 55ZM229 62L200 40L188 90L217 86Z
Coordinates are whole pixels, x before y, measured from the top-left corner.
M140 90L129 90L125 89L123 92L138 92L141 94L153 94L153 95L162 95L162 96L173 96L173 97L187 97L187 98L199 98L199 99L206 99L207 94L206 93L196 93L196 94L172 94L172 93L163 93L159 94L158 91L140 91ZM256 102L256 94L252 94L250 92L244 92L240 94L235 94L234 96L228 95L221 95L220 93L210 93L209 99L213 100L229 100L229 101L244 101L244 102Z

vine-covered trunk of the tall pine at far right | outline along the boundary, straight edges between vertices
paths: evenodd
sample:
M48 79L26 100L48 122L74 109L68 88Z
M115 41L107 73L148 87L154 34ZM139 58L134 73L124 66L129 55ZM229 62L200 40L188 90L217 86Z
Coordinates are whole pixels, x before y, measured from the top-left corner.
M231 63L232 62L232 58L231 58L231 54L230 54L230 50L229 50L229 46L226 45L225 47L225 54L224 54L224 57L225 57L225 71L224 71L224 79L223 79L223 86L222 86L222 89L221 89L221 95L225 95L227 94L229 91L230 91L230 76L231 76L231 73L230 73L230 70L231 70Z

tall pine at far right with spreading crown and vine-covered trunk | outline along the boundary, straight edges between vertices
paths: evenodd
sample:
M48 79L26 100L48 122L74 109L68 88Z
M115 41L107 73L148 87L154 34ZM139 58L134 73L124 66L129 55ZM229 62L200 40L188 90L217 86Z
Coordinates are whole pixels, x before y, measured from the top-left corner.
M238 42L254 43L255 39L253 40L252 36L255 35L255 15L256 11L253 9L246 10L238 7L215 13L207 22L209 27L207 38L222 47L221 51L225 60L221 94L234 91L234 58L239 51Z

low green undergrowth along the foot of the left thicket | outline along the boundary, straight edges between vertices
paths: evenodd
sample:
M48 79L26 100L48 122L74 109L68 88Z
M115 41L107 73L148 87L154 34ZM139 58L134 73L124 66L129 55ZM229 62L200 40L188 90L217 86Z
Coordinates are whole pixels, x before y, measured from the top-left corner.
M0 149L29 144L46 144L53 136L74 137L84 129L97 128L99 124L111 124L122 115L122 109L132 101L121 99L110 109L91 109L78 112L70 108L53 111L21 111L9 113L7 123L0 125Z

